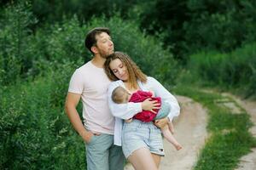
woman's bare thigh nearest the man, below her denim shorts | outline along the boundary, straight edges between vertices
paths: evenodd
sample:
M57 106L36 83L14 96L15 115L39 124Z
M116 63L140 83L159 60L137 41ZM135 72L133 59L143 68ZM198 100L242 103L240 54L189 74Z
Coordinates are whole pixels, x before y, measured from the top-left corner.
M132 152L128 157L128 161L136 170L157 170L154 158L148 148L140 148Z

